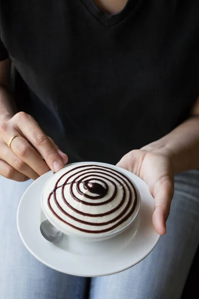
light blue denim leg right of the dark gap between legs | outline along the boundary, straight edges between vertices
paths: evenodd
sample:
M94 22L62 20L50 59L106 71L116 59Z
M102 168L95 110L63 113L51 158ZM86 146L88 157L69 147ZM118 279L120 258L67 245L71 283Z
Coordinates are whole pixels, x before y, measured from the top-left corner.
M93 278L90 299L180 299L199 244L199 171L175 178L167 233L136 266Z

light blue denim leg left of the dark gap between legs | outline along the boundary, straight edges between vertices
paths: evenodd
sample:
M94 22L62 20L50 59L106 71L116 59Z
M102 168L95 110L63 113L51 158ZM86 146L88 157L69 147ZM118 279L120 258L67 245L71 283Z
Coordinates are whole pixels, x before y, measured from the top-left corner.
M0 299L82 299L85 278L46 267L22 244L16 212L20 197L30 183L0 177Z

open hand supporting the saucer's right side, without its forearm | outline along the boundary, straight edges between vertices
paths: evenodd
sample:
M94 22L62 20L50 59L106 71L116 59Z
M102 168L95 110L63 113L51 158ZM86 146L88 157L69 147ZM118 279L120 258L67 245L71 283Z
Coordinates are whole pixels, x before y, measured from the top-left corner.
M153 225L160 235L164 235L174 195L174 170L171 158L161 150L136 149L125 154L117 166L133 172L148 184L154 197Z

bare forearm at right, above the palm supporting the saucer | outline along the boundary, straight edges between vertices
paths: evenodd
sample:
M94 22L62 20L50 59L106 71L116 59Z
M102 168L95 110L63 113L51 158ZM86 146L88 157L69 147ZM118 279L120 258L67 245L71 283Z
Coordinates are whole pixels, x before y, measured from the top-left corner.
M169 155L175 173L199 168L199 117L191 117L165 137L142 149Z

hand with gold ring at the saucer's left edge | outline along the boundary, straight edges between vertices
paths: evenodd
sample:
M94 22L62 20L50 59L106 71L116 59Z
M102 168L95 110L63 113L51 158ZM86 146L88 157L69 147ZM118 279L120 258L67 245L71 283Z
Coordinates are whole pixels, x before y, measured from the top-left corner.
M12 141L10 149L7 144L15 135L21 137ZM16 181L36 179L50 169L60 170L67 161L30 115L19 112L0 124L0 175Z

